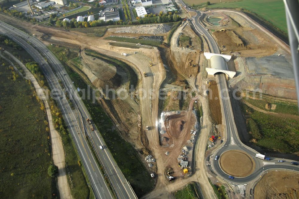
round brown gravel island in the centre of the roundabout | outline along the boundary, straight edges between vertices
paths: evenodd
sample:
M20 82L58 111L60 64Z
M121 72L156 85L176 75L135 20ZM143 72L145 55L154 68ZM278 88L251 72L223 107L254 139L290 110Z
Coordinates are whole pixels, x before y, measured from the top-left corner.
M244 151L229 150L221 154L219 165L223 172L234 177L247 177L255 170L254 159Z

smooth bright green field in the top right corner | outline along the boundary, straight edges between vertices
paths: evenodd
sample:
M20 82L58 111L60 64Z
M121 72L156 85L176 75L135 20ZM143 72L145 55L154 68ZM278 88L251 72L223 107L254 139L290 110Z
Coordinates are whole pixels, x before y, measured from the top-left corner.
M262 16L277 28L287 32L286 13L282 0L243 0L227 3L215 3L209 8L244 8Z

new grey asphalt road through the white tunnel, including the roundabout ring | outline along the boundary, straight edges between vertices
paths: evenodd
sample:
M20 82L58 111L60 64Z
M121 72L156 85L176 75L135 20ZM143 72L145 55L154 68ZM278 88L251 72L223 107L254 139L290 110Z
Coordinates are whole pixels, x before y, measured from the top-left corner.
M179 4L182 4L182 6L185 6L184 2L181 0L177 0ZM218 47L218 44L216 43L216 40L212 37L212 35L205 29L205 27L200 22L201 13L198 10L193 10L188 7L186 7L186 10L196 12L196 16L192 20L193 25L195 26L196 30L205 36L207 39L208 45L210 47L211 53L220 54L220 50ZM226 140L224 141L223 145L214 153L213 156L211 156L211 167L213 171L221 176L223 179L229 181L232 184L240 184L240 183L250 183L252 181L257 180L261 174L268 170L268 169L286 169L286 170L293 170L293 171L299 171L299 166L292 165L292 160L287 159L281 159L284 162L278 163L277 158L270 158L270 161L262 160L259 158L256 158L255 155L258 153L254 149L251 149L250 147L246 146L239 140L239 135L237 132L236 124L234 122L234 114L231 107L231 101L229 98L229 91L228 91L228 85L226 81L225 74L217 74L217 85L219 89L219 96L221 98L221 104L223 108L223 115L224 115L224 121L225 121L225 128L226 128ZM256 169L255 171L249 175L248 177L243 178L234 178L233 180L228 178L228 174L222 171L219 165L219 159L214 160L214 156L221 156L222 153L228 150L242 150L248 153L250 156L253 157L255 163L256 163ZM242 160L240 160L242 161Z

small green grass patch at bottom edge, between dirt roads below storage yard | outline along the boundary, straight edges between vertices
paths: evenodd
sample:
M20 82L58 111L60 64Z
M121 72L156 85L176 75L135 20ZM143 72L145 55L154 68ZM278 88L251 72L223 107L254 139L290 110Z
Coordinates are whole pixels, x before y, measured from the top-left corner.
M184 188L174 192L174 197L177 199L198 199L200 194L195 183L190 183Z

